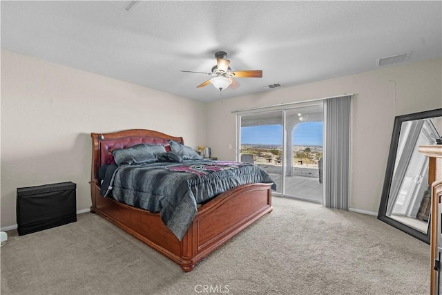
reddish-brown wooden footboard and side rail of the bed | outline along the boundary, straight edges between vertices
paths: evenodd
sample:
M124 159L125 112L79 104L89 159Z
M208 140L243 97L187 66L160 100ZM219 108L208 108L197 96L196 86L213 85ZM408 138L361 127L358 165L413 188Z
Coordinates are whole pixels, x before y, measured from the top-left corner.
M271 184L244 184L231 189L198 209L182 240L151 213L119 203L99 194L91 182L91 211L110 220L146 245L175 261L189 272L202 258L236 236L242 229L272 211Z

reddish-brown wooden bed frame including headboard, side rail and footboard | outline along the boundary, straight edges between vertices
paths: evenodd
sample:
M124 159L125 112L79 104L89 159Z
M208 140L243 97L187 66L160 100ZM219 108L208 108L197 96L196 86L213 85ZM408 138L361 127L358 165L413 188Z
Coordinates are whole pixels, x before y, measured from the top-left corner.
M137 209L100 195L99 167L111 157L113 149L135 144L167 144L182 137L157 131L132 129L115 133L91 133L92 173L91 212L96 212L148 246L179 264L189 272L202 258L208 256L242 229L272 211L271 184L244 184L206 202L198 209L182 240L178 240L162 222L160 213Z

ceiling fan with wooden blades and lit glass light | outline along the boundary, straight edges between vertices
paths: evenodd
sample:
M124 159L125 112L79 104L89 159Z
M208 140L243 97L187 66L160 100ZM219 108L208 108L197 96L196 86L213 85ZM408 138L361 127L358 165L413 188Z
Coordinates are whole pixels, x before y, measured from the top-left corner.
M227 53L224 51L218 51L215 53L216 64L213 66L211 73L193 72L191 70L182 70L186 73L198 73L215 76L206 82L196 86L196 88L202 88L211 83L215 88L225 89L232 84L232 88L238 86L238 83L233 78L260 78L262 77L262 70L234 70L230 68L230 61L226 59Z

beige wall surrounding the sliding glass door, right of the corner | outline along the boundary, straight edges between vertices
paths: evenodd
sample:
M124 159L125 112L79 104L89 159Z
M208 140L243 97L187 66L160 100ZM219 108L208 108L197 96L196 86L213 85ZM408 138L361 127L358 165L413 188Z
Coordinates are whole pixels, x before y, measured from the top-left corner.
M207 144L220 159L234 160L236 114L254 106L300 102L354 93L350 207L377 213L394 117L442 108L441 59L389 66L356 75L267 91L207 106ZM233 149L229 149L229 144Z

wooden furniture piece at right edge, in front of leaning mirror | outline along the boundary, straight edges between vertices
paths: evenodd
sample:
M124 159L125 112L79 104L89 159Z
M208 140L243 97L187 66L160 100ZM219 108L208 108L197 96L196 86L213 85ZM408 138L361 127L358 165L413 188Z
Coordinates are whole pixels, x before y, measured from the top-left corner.
M424 153L428 162L428 184L432 187L431 225L430 225L430 294L440 294L442 288L441 258L442 258L442 145L419 146L419 152Z

